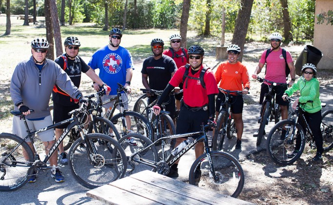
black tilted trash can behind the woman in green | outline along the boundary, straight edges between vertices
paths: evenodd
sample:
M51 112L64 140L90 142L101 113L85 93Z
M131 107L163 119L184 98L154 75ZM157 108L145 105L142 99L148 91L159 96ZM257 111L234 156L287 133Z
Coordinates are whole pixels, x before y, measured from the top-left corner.
M306 52L304 52L304 51L306 51ZM316 67L317 67L317 64L320 61L320 59L323 57L323 53L319 49L317 49L316 47L313 47L312 45L306 45L295 62L296 74L298 76L302 75L302 67L304 65L304 63L303 63L303 54L304 53L308 54L306 63L312 63Z

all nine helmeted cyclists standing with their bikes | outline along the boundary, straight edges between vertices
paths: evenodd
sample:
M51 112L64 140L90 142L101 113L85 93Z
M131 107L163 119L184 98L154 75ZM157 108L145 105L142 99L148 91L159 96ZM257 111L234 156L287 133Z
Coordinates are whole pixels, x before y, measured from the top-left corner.
M78 89L81 82L82 72L87 74L94 82L94 89L104 88L107 95L103 96L103 101L117 95L117 82L124 85L127 92L131 92L131 79L133 75L133 61L130 52L120 46L123 33L118 28L112 28L109 32L109 43L97 50L90 61L86 64L78 56L81 43L76 37L68 37L64 41L65 53L55 61L46 59L49 43L43 38L36 38L31 42L32 56L29 60L20 62L12 76L10 84L10 94L15 108L26 115L26 121L33 130L38 130L49 124L58 123L68 118L67 113L77 108L78 102L87 102ZM201 130L202 123L215 123L215 116L219 113L220 104L225 102L225 95L219 93L218 86L227 90L242 91L243 95L248 94L250 89L249 72L244 64L238 61L241 48L231 44L227 48L228 60L222 62L216 69L215 74L203 62L205 50L199 45L192 45L188 49L181 47L182 38L178 34L171 35L170 47L164 50L164 41L154 38L151 43L153 56L148 57L142 68L142 82L146 89L164 90L159 100L153 107L155 114L159 114L161 105L169 102L166 110L175 119L176 111L179 112L177 118L176 133L183 134ZM322 139L320 132L321 105L319 100L319 82L317 81L316 67L307 63L302 68L302 77L295 82L295 68L290 52L286 52L284 58L283 49L280 47L282 36L278 33L270 35L270 51L265 50L256 67L252 78L256 78L267 63L265 78L272 82L286 83L285 70L290 69L291 88L287 86L279 87L275 90L276 102L281 105L282 119L287 119L287 102L284 98L293 92L300 90L298 102L308 102L304 105L307 118L311 122L312 132L315 135L317 153L313 158L318 161L322 155ZM267 56L267 52L269 55ZM288 66L288 67L286 67ZM95 70L99 69L99 76ZM260 102L263 102L267 86L262 86ZM183 89L183 93L170 97L172 90ZM54 103L53 120L48 110L48 103L52 94ZM156 96L149 93L149 101L154 101ZM215 97L217 96L216 100ZM123 98L126 98L124 94ZM181 101L182 99L182 101ZM128 109L128 101L124 100L125 109ZM244 123L242 119L243 96L235 95L231 99L231 112L233 114L235 128L237 130L237 141L235 148L242 147L242 134ZM105 104L107 110L113 106L112 102ZM295 106L295 105L293 105ZM34 112L30 112L33 109ZM126 119L126 121L130 119ZM130 123L127 123L130 124ZM215 123L216 124L216 123ZM56 139L62 135L62 128L55 130ZM13 133L21 138L25 136L24 123L20 118L13 119ZM256 136L257 133L254 133ZM39 134L45 145L45 152L54 143L54 133L52 131ZM186 138L177 138L175 146L185 141ZM29 142L28 142L29 143ZM29 143L31 145L31 143ZM297 143L296 143L297 150ZM67 164L66 154L62 146L59 147L61 164ZM195 146L195 156L198 158L204 152L204 144L198 143ZM57 156L50 159L51 165L58 165ZM170 177L178 177L178 162L171 166ZM201 171L196 170L195 178L201 176ZM51 174L56 182L63 182L59 168L55 174ZM36 182L33 175L28 182Z

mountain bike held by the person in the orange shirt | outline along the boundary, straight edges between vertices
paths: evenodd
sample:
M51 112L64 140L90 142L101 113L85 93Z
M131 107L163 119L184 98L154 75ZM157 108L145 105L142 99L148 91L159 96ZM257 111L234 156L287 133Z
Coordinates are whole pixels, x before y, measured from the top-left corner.
M219 91L225 94L225 102L221 102L219 115L217 117L217 126L214 131L213 140L211 143L212 150L222 150L225 136L231 139L234 133L237 133L235 123L233 121L231 112L231 98L232 94L243 95L243 91L239 90L225 90L219 87ZM225 105L225 108L223 107Z

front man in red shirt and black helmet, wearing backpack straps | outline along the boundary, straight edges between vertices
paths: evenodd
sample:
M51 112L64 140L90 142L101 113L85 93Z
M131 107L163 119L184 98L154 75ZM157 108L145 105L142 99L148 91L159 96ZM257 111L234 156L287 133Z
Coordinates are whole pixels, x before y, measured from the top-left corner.
M204 88L200 82L200 73L204 68L202 65L204 54L204 49L199 45L192 45L188 49L188 61L190 66L183 86L184 103L181 106L177 120L177 134L201 131L202 123L207 123L208 120L214 122L215 94L218 93L218 88L214 74L210 69L205 72L203 78L206 88ZM173 88L183 82L186 69L186 66L182 66L173 75L159 101L153 107L155 114L158 115L160 113L160 104ZM185 140L187 139L177 138L175 147ZM198 158L202 154L204 154L204 143L200 142L195 145L195 157ZM171 165L170 172L167 176L178 177L178 163L179 161ZM197 172L196 180L201 177L201 171L197 170Z

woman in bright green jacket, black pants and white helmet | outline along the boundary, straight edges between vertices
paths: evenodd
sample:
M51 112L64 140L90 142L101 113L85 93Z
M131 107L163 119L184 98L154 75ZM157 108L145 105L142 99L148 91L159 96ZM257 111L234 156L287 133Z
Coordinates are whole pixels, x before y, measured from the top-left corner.
M304 117L309 122L313 133L314 142L317 146L317 153L312 158L313 161L319 161L323 153L323 136L320 131L321 124L321 102L319 100L319 82L316 79L317 69L312 63L306 63L302 67L302 77L294 83L291 88L286 90L282 98L285 100L287 96L291 96L297 90L300 91L300 97L292 104L292 109L295 109L298 102L302 103L300 108L304 111ZM311 101L311 102L309 102ZM303 104L304 103L304 104ZM299 122L306 132L305 124ZM305 133L306 134L306 133ZM300 148L300 139L296 139L295 150L296 154Z

